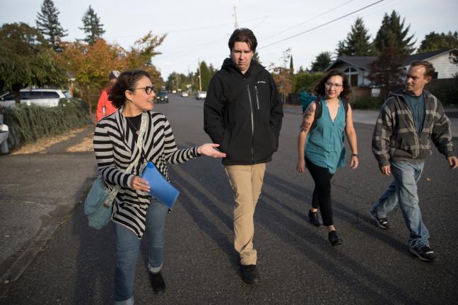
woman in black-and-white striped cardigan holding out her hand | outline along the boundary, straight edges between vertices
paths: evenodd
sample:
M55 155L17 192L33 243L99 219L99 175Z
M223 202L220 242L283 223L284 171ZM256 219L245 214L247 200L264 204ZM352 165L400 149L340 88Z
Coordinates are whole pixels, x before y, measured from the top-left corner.
M94 151L105 183L121 186L114 198L112 222L117 246L114 274L115 304L134 304L134 279L139 246L148 236L148 269L155 294L165 291L160 270L165 244L164 225L168 208L149 196L148 182L139 177L148 161L154 163L166 179L166 162L182 163L200 155L225 157L218 144L177 149L172 128L163 114L151 111L155 92L146 71L126 71L113 86L109 100L117 111L98 122L94 133ZM136 145L141 116L148 114L143 148ZM131 172L123 171L141 155Z

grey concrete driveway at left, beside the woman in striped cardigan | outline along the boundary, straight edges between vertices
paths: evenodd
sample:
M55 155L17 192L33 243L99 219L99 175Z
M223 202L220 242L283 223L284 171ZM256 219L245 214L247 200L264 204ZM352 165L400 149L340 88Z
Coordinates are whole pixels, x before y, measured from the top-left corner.
M93 152L66 152L93 125L45 153L0 155L0 276L16 280L86 196L97 173ZM0 286L4 288L3 286ZM1 295L1 291L0 291Z

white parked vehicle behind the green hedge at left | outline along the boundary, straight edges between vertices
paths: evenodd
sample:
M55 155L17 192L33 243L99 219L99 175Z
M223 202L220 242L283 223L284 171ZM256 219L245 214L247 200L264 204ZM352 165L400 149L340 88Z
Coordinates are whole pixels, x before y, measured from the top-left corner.
M71 98L67 90L60 89L21 89L19 98L21 104L36 104L43 107L56 107L61 99ZM8 93L0 97L0 105L4 107L14 107L14 93Z

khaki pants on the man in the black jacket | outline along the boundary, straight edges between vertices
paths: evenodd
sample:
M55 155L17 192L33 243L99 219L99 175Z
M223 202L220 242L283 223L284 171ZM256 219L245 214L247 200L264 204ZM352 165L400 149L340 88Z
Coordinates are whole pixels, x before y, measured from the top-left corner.
M235 196L234 247L240 254L242 265L256 265L257 253L253 248L253 216L254 208L261 194L265 171L265 163L225 167Z

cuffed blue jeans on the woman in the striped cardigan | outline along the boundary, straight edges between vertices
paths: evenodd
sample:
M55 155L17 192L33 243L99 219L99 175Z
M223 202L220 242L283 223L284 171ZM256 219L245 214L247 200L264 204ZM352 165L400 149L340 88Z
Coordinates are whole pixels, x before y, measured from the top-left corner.
M151 199L146 212L146 237L148 239L148 269L158 273L163 265L165 244L165 215L168 207ZM116 238L116 270L114 271L114 301L117 305L134 304L134 282L140 241L127 227L113 223Z

